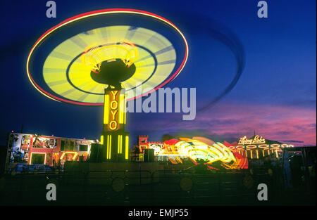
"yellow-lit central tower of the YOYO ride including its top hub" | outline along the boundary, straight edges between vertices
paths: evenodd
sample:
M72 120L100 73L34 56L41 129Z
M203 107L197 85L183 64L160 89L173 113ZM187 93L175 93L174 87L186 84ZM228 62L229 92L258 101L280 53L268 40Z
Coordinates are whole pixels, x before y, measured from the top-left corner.
M125 89L121 82L135 74L138 50L131 41L90 46L81 61L91 68L90 77L104 84L104 123L101 131L103 159L124 162L129 156L129 136L125 132Z

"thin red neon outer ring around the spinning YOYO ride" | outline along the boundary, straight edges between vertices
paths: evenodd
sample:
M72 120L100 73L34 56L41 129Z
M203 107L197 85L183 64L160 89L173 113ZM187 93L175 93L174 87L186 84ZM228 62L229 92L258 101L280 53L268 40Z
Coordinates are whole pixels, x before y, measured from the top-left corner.
M188 58L188 44L187 41L184 37L184 35L182 34L182 32L180 32L180 30L178 29L178 27L176 27L172 22L170 22L169 20L167 20L166 18L163 18L159 15L156 15L154 13L149 13L147 11L140 11L137 9L125 9L125 8L110 8L110 9L103 9L103 10L98 10L98 11L90 11L87 13L82 13L80 15L76 15L72 18L68 18L66 20L64 20L63 22L59 23L58 25L51 27L51 29L47 30L46 32L44 32L44 34L42 34L41 37L39 37L39 39L37 39L37 41L35 42L35 44L32 46L31 51L29 53L29 56L27 57L27 77L29 77L30 82L32 83L33 86L35 86L35 89L37 89L40 93L42 93L44 96L53 99L54 101L58 101L58 102L64 102L64 103L71 103L71 104L75 104L75 105L104 105L104 103L81 103L81 102L76 102L76 101L70 101L70 100L66 100L63 98L59 98L56 97L54 95L52 95L51 93L44 91L44 89L42 89L36 82L35 80L31 77L30 75L30 70L29 70L29 63L30 63L30 58L32 56L32 52L35 50L36 46L43 41L49 34L51 34L51 32L54 32L54 30L57 30L59 27L62 27L63 25L66 25L70 22L74 22L75 20L80 20L82 18L88 18L90 16L94 16L94 15L101 15L101 14L107 14L107 13L135 13L135 14L139 14L139 15L147 15L149 17L152 18L156 18L158 20L161 20L163 22L165 22L166 24L170 25L170 27L173 27L182 37L182 39L185 42L185 56L184 59L182 60L182 63L180 65L180 67L178 67L178 70L176 70L176 72L169 77L168 79L166 79L165 82L163 82L162 84L160 84L159 86L156 86L156 88L151 89L151 91L148 91L147 93L143 93L142 95L139 96L135 96L133 98L129 98L127 101L130 101L132 99L136 99L136 98L140 98L142 96L145 96L153 91L156 91L157 89L161 88L162 86L166 85L168 82L172 81L173 79L175 79L175 77L178 76L178 74L180 74L180 72L182 71L182 69L185 66L185 63L187 61Z

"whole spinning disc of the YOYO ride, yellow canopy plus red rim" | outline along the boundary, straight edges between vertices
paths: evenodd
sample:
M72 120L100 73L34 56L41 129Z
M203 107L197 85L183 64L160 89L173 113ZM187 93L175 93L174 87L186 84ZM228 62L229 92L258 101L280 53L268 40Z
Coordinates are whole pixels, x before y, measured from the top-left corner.
M100 16L113 14L142 15L147 17L150 22L159 20L159 23L166 23L172 27L168 28L170 32L174 32L174 38L169 35L168 37L163 36L164 34L160 30L167 26L161 25L162 27L158 29L156 27L158 22L154 24L154 30L151 30L151 25L142 27L143 20L141 20L142 22L136 21L137 26L131 25L131 22L127 22L128 25L122 25L122 22L120 25L109 25L105 22L105 25L102 26ZM99 20L94 22L93 18ZM110 18L105 17L104 20L108 21ZM91 22L86 21L89 19ZM78 31L81 30L81 23L78 20L86 28L82 29L84 30L82 32ZM113 20L115 19L113 18ZM95 25L98 27L87 30L87 27L93 27L98 22L101 25ZM69 29L73 24L75 27ZM60 28L63 32L68 28L69 32L73 31L75 34L66 32L61 35L62 31L56 31ZM159 31L155 31L156 29ZM175 42L180 41L175 40L178 38L175 37L177 35L175 32L182 38L181 46L175 47L174 45ZM60 36L64 39L58 42ZM173 42L170 39L173 39ZM46 51L42 48L45 48ZM27 74L38 91L56 101L102 105L104 89L109 85L99 82L92 77L92 74L99 74L103 62L122 60L126 67L131 67L129 77L120 81L121 86L125 89L127 100L130 100L140 95L137 93L140 86L142 86L143 95L174 79L185 65L187 51L187 42L182 33L175 25L159 15L129 9L117 11L109 9L77 15L44 33L30 52L27 60ZM37 53L43 53L46 56L42 58ZM43 83L40 84L40 81Z

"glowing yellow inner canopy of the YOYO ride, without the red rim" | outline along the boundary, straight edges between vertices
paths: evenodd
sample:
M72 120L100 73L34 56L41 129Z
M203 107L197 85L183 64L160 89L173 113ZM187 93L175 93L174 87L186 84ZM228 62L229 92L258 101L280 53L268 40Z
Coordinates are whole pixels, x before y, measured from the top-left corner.
M142 90L154 89L166 80L175 67L175 50L170 41L161 34L144 28L133 32L132 34L129 26L101 27L91 30L89 34L77 34L63 41L45 60L43 75L46 84L64 98L85 103L102 103L104 89L108 85L99 84L92 79L90 72L97 63L91 65L83 63L84 55L80 56L80 54L89 50L91 45L101 46L99 47L101 61L124 58L129 52L120 44L131 41L136 46L138 58L133 62L136 67L134 75L122 82L127 98L133 98L136 87L141 84ZM142 46L144 44L146 48ZM152 51L157 55L151 54ZM69 71L66 72L68 68Z

